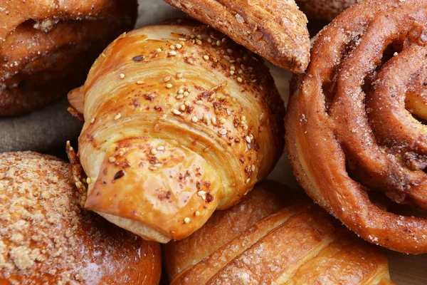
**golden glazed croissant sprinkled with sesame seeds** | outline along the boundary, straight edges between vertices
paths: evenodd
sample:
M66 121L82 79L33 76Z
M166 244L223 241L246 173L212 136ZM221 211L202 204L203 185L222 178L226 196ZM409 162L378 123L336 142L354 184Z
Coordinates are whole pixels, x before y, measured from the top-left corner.
M85 208L159 242L238 202L283 151L284 104L263 60L191 23L120 36L69 95L85 118Z

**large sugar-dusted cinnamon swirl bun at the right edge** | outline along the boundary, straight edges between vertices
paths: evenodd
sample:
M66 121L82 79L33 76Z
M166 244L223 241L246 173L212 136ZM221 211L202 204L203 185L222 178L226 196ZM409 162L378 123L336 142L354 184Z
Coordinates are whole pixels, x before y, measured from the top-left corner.
M399 210L427 209L426 23L425 0L344 11L317 36L286 119L307 193L364 239L406 253L427 252L427 219Z

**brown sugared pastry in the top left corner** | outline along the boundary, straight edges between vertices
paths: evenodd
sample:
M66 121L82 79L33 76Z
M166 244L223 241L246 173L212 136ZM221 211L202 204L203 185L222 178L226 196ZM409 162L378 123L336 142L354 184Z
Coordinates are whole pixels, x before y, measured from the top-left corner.
M82 84L136 14L136 0L1 1L0 116L41 108Z

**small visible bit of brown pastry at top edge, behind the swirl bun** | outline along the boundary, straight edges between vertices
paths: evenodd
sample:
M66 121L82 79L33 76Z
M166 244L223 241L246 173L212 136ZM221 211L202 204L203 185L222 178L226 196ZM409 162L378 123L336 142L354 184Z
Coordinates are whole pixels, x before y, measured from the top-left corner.
M295 0L310 19L332 21L342 11L362 0Z

